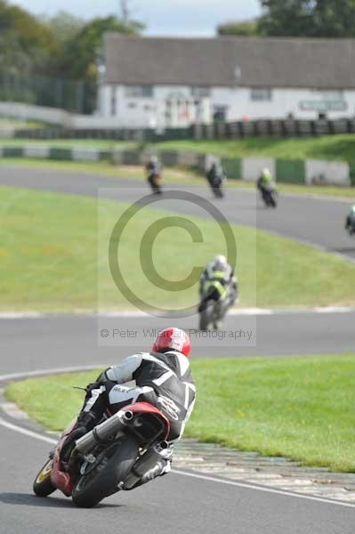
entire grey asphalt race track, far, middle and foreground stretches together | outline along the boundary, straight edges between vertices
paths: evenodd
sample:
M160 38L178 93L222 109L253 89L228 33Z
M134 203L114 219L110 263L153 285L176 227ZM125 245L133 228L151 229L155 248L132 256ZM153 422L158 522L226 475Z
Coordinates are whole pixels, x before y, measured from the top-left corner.
M90 175L0 167L0 184L97 196L98 187L122 188L109 198L133 200L134 184ZM129 190L126 188L130 188ZM192 189L191 189L192 190ZM194 189L196 191L196 189ZM198 191L211 200L209 191ZM218 206L230 222L276 231L355 258L355 242L343 231L350 202L285 196L277 211L262 208L250 191L229 190ZM105 193L106 194L106 193ZM139 192L137 191L139 195ZM255 210L255 205L257 209ZM194 212L191 206L190 213ZM254 328L252 344L197 344L196 357L296 355L353 351L355 312L277 313L233 316L226 328ZM112 363L132 352L133 344L99 346L100 328L141 330L143 317L39 317L0 320L0 375ZM177 319L182 327L187 320ZM99 326L99 329L98 329ZM190 325L189 325L190 327ZM146 348L140 339L134 350ZM1 384L0 384L1 385ZM282 495L238 482L190 478L173 473L141 489L122 492L95 510L74 508L59 493L39 499L31 494L36 470L49 443L1 425L0 534L143 532L144 534L352 534L355 509L331 501ZM19 423L20 425L20 423Z

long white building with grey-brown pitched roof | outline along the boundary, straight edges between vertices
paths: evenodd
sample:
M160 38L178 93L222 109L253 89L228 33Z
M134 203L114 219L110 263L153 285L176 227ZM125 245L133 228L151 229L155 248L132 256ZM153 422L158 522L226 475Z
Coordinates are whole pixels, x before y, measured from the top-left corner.
M355 114L355 40L108 34L98 113L117 127Z

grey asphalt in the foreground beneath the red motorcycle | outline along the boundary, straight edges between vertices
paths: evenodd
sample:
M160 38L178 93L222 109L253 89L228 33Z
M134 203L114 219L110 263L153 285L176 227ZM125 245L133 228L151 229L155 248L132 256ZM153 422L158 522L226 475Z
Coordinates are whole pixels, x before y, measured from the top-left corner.
M34 469L50 447L2 429L2 534L351 534L354 509L172 473L141 489L77 510L69 499L31 495ZM6 458L6 460L4 460Z

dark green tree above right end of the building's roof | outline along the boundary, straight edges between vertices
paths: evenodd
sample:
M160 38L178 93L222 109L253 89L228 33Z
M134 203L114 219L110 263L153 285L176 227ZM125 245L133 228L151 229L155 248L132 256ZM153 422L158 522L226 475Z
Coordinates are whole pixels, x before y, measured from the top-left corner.
M261 0L267 36L353 37L355 0Z

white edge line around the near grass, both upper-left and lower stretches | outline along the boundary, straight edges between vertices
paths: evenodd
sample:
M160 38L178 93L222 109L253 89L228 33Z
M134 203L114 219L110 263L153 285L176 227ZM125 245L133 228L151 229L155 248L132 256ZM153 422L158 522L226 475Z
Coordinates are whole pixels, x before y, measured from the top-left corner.
M96 366L89 366L89 367L81 367L81 368L55 368L55 369L40 369L38 371L30 371L30 372L23 372L23 373L16 373L12 375L0 375L0 384L6 383L9 380L19 380L21 378L28 378L30 376L49 376L54 374L62 374L62 373L75 373L79 371L86 371L86 370L92 370L95 368L101 368L102 363L98 364ZM44 441L45 443L49 443L51 445L56 444L56 440L51 438L49 435L36 433L31 430L28 430L27 428L24 428L20 425L13 425L12 423L6 421L3 417L0 417L0 426L3 426L4 428L7 428L8 430L12 430L16 433L21 433L22 435L28 436L28 438L32 438L38 441ZM269 488L267 486L261 486L257 484L250 484L245 482L238 482L238 481L230 481L225 480L222 478L217 478L214 476L208 476L202 473L190 473L187 471L182 470L175 470L172 471L173 474L179 475L179 476L186 476L190 478L196 478L203 481L208 481L211 483L218 483L218 484L224 484L227 486L234 486L235 488L240 488L244 490L253 490L253 491L263 491L271 494L277 494L277 495L283 495L288 498L301 498L311 501L316 501L319 503L324 503L327 506L329 505L335 505L335 506L345 506L347 508L354 508L355 505L352 505L351 503L346 503L342 501L332 500L328 498L321 498L321 497L313 497L311 495L303 495L299 493L293 493L291 491L286 490L274 490L272 488Z

